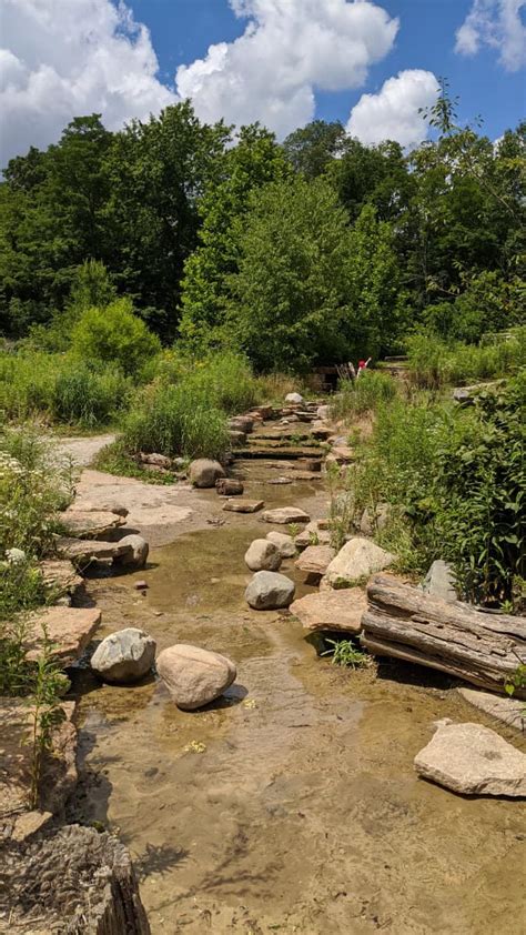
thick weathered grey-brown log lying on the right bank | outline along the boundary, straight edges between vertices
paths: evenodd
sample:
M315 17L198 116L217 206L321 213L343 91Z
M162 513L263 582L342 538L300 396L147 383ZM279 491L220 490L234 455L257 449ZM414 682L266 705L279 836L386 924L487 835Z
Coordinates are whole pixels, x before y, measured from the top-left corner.
M372 579L367 599L361 642L374 655L438 668L493 692L504 692L526 664L525 617L449 604L388 575ZM515 696L526 697L526 691Z

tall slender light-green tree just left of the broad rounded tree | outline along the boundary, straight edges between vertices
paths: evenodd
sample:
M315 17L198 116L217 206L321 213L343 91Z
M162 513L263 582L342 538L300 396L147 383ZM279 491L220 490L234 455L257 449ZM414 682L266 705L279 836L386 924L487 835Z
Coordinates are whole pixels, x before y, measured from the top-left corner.
M242 220L251 193L291 173L274 134L257 123L242 127L224 157L222 175L201 200L199 245L184 265L180 334L194 351L221 343L231 301L230 277L237 272ZM257 198L255 199L255 201Z

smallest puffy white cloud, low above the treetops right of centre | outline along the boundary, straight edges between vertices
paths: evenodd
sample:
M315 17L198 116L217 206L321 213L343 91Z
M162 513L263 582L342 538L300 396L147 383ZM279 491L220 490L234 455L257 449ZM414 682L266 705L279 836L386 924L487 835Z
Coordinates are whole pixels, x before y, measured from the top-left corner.
M438 81L431 71L408 69L384 82L377 94L362 94L351 111L347 133L363 143L396 140L413 147L426 137L426 124L418 108L434 104Z

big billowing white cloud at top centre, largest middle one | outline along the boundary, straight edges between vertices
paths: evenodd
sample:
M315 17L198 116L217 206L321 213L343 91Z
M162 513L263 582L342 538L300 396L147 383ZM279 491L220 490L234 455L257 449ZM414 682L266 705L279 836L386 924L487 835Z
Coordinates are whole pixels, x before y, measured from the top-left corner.
M176 89L198 117L242 124L260 120L283 138L308 122L315 91L364 83L393 47L398 20L368 0L230 0L247 18L233 42L176 72Z

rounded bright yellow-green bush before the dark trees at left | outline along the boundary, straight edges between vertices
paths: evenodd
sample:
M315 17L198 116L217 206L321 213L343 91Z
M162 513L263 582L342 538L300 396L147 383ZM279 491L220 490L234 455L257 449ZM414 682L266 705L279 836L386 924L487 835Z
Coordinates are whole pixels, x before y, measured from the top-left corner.
M133 313L129 299L84 311L73 328L71 349L81 360L104 361L138 373L161 350L159 338Z

